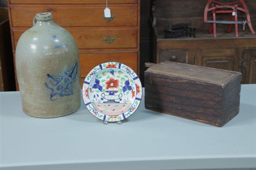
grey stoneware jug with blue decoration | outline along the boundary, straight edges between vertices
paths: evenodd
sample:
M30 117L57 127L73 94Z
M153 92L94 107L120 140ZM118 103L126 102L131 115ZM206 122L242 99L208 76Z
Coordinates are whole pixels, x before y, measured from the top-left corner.
M80 61L72 35L38 13L16 47L23 112L40 118L74 113L80 107Z

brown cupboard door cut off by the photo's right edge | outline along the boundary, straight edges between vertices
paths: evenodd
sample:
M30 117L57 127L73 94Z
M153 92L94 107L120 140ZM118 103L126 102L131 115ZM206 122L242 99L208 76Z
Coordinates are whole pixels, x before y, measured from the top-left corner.
M256 48L243 50L243 83L256 84Z

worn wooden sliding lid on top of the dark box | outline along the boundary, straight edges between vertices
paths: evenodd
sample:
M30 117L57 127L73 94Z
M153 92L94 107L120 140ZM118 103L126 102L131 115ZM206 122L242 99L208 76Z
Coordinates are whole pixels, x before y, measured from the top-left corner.
M146 64L146 66L149 66ZM166 76L182 77L189 80L225 85L242 74L236 71L214 69L184 63L163 62L151 64L146 71Z

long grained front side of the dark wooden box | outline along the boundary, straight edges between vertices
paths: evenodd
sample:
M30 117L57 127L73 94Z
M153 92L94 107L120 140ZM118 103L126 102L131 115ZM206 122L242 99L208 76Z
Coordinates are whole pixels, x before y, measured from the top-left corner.
M214 84L145 72L146 109L221 126L222 94Z

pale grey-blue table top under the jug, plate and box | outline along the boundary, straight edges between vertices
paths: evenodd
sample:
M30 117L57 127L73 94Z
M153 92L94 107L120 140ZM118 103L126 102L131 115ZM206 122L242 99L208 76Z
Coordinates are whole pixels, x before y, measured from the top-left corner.
M240 113L223 127L146 110L104 125L74 114L29 117L19 92L0 93L1 170L256 168L256 85L242 85Z

